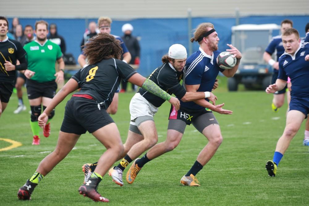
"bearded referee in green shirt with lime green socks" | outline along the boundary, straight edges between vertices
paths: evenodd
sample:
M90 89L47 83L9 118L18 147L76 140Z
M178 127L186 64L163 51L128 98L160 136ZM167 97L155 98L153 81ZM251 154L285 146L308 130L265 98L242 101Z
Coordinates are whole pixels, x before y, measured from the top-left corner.
M32 145L40 144L40 127L38 117L48 106L56 94L57 83L64 81L64 61L61 49L57 44L47 40L48 23L41 20L35 24L36 40L26 44L23 48L27 52L28 69L25 71L27 79L27 93L31 107L30 126L33 132ZM59 71L56 72L56 61ZM49 115L49 121L55 115L53 110ZM50 123L44 127L43 134L48 137Z

